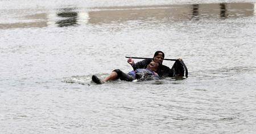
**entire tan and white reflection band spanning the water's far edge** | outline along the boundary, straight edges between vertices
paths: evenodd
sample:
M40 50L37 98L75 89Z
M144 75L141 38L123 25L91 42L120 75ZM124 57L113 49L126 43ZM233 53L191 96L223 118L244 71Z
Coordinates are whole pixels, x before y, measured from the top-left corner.
M97 7L88 12L76 8L57 10L51 13L34 14L30 10L20 13L12 10L9 16L19 14L16 23L0 23L0 29L78 26L85 24L109 24L139 20L146 22L174 22L200 19L227 19L254 15L254 3L210 3L193 5ZM45 11L46 12L46 11ZM49 18L52 16L52 18ZM12 19L12 18L11 18ZM81 19L81 20L80 20ZM85 21L82 19L86 19ZM53 23L49 23L52 22ZM79 23L82 22L82 23Z

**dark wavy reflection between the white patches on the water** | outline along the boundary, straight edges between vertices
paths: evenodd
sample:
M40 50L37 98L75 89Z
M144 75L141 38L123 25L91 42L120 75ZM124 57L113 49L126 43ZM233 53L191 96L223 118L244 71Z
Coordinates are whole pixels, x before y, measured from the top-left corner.
M57 20L56 24L58 27L77 25L78 13L74 11L74 9L61 9L60 12L57 12L57 16L63 18L61 20Z

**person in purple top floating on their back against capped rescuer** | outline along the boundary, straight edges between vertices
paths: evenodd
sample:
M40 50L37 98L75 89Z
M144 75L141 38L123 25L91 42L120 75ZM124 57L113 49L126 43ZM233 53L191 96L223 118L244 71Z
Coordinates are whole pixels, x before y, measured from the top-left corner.
M122 81L133 81L135 79L138 79L138 81L150 81L150 80L159 80L160 77L158 74L155 72L158 70L159 63L155 61L151 61L150 64L147 65L146 69L135 69L129 73L123 73L119 69L113 70L113 72L117 73L118 78ZM92 81L97 83L97 84L102 84L106 81L109 81L109 79L104 79L103 81L98 78L97 76L93 75L92 76Z

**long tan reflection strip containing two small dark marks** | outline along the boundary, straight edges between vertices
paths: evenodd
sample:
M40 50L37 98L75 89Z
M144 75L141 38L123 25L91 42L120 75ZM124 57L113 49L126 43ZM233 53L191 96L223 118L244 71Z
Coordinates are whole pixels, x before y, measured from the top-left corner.
M239 18L254 15L254 3L211 3L193 5L106 7L90 11L89 23L113 23L129 20L180 21L210 18Z

